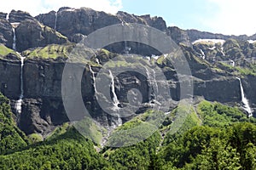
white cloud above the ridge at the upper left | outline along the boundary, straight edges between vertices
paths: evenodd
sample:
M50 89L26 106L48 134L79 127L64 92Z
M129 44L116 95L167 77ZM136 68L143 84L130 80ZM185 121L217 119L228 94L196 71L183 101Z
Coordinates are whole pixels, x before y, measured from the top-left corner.
M122 8L121 0L7 0L0 5L0 11L9 13L12 9L23 10L35 16L58 10L61 7L93 8L99 11L115 14Z

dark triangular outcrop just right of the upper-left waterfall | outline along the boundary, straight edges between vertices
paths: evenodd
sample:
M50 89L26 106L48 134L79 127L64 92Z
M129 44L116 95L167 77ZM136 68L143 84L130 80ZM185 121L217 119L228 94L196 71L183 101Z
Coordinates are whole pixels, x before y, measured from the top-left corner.
M44 47L47 44L67 43L67 37L59 32L41 25L37 20L24 20L15 29L17 51L28 48Z

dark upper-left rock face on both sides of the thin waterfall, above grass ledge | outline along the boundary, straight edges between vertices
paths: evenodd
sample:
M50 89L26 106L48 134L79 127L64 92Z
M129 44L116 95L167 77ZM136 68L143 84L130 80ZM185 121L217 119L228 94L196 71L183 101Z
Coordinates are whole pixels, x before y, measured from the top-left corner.
M0 14L0 43L8 48L12 48L14 43L13 27L15 28L16 50L19 52L27 48L44 47L51 43L68 42L67 37L48 26L43 26L26 12L12 10L9 20L6 17L7 14Z

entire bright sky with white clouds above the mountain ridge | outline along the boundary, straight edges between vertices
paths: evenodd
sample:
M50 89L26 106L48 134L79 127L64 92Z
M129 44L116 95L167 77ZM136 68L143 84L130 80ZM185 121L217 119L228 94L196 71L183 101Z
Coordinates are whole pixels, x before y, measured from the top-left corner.
M57 10L62 6L87 7L115 14L161 16L167 26L198 29L224 34L256 33L254 0L3 0L0 11L20 9L32 15Z

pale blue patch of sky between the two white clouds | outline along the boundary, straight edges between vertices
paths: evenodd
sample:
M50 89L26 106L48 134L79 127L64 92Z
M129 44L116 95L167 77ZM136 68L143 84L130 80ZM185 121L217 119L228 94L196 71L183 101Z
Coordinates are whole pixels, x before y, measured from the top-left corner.
M162 16L167 26L205 31L214 30L204 26L202 20L210 18L218 8L216 4L206 0L122 0L122 5L123 10L131 14Z

